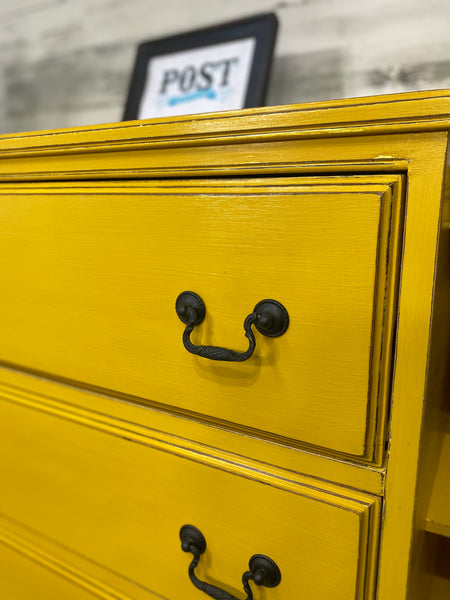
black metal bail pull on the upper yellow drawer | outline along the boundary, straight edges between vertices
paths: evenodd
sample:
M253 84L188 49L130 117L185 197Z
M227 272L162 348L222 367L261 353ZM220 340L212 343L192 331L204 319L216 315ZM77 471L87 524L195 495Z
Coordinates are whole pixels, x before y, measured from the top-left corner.
M175 310L179 318L186 324L183 333L183 344L186 350L191 354L210 360L242 362L250 358L256 347L255 335L252 331L253 324L260 333L268 337L283 335L289 326L289 315L282 304L276 300L261 300L244 321L245 337L249 341L248 349L245 352L236 352L220 346L195 346L191 342L190 335L194 327L200 325L206 314L205 305L198 294L194 292L181 293L177 298Z

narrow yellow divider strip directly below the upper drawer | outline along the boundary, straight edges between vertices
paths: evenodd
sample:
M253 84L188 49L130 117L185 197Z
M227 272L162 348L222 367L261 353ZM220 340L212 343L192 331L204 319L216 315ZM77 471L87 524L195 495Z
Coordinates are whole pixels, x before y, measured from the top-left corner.
M222 428L212 429L208 424L199 423L178 415L167 414L139 403L110 397L106 394L89 392L68 384L18 372L11 368L0 367L0 400L19 402L20 398L40 406L42 399L55 402L63 390L66 405L77 407L87 416L108 415L114 423L134 427L139 424L147 434L177 443L185 448L204 455L214 453L241 464L255 465L272 473L281 473L283 477L295 478L317 483L318 487L333 482L340 489L362 490L368 494L382 496L384 493L385 472L383 468L353 464L334 457L324 457L308 450L291 448L273 441L253 438ZM167 433L167 432L170 432ZM211 436L211 433L214 435ZM195 441L194 441L195 440ZM230 452L233 448L233 452Z

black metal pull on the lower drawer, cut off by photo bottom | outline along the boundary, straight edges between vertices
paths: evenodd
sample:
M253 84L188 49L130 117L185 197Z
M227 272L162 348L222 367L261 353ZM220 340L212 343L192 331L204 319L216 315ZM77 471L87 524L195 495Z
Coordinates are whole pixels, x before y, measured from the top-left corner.
M238 600L235 596L221 590L215 585L201 581L194 573L200 556L206 550L206 540L202 532L193 525L183 525L180 529L180 539L183 551L191 552L194 555L189 565L189 577L195 587L208 594L208 596L211 596L211 598L215 598L215 600ZM242 575L242 585L244 586L244 592L247 594L245 600L253 600L250 581L264 587L276 587L281 581L280 569L271 558L264 554L255 554L252 556L248 566L249 571L246 571Z

